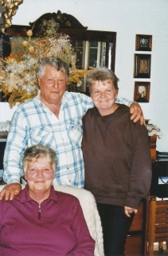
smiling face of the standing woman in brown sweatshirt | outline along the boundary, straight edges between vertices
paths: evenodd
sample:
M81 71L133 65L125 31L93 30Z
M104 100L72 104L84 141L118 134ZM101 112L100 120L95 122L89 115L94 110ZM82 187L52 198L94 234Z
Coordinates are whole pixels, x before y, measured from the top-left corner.
M111 82L96 81L92 86L92 100L101 115L111 114L115 111L115 98L117 90Z

